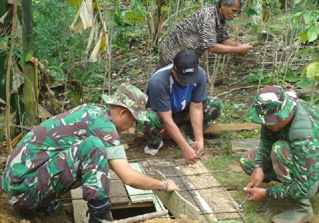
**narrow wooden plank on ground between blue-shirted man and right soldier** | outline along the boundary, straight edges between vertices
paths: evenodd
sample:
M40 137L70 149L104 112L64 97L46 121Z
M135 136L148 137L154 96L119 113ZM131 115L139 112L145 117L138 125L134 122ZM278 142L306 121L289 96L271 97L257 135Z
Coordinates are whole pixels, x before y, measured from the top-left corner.
M212 124L205 133L220 132L220 131L239 131L239 130L251 130L260 128L260 124L255 123L240 123L240 124Z

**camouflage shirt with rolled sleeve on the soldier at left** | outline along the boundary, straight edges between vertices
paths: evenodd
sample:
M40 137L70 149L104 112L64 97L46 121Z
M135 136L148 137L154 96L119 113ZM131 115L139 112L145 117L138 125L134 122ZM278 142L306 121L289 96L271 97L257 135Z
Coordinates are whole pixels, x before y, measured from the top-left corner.
M108 159L126 159L109 107L84 104L42 122L24 136L7 159L3 190L13 195L25 192L42 164L89 136L101 139Z

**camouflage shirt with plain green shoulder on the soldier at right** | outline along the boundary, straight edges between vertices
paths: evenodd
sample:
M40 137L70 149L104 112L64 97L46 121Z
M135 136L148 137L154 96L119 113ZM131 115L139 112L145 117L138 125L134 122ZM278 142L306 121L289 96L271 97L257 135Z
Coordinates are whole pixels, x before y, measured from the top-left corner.
M262 126L255 167L265 169L272 165L272 145L278 140L287 140L290 143L294 157L294 179L291 179L291 184L267 189L267 195L300 199L319 180L319 109L299 99L295 116L288 126L277 132Z

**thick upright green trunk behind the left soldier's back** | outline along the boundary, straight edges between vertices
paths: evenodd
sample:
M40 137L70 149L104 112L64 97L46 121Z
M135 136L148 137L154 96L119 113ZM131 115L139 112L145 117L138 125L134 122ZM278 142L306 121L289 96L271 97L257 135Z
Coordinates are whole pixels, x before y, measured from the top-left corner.
M30 59L32 56L32 0L22 0L22 55L23 59ZM24 87L23 87L23 103L24 103L24 125L34 126L36 120L36 88L35 88L35 68L34 64L26 61L23 66ZM26 131L26 130L25 130Z

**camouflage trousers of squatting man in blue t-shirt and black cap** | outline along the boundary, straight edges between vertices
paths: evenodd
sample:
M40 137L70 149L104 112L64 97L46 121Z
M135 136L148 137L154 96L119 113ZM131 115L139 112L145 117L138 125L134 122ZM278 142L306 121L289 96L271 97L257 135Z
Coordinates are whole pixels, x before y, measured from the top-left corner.
M208 99L203 102L203 110L203 130L206 130L213 120L221 114L223 103L218 98L208 97ZM148 138L148 146L151 148L158 148L161 142L160 132L164 126L158 112L153 111L151 108L146 109L146 112L150 121L138 121L138 125L140 130ZM181 112L173 114L172 118L176 125L183 129L187 136L193 139L193 129L189 119L189 107Z

